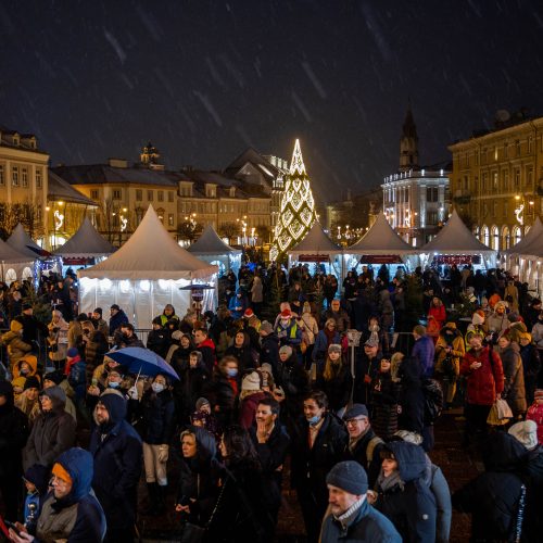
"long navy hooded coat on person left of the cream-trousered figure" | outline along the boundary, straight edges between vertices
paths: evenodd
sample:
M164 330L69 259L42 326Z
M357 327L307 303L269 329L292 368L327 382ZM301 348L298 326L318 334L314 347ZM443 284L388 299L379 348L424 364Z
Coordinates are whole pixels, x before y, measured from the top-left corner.
M110 420L97 425L90 437L89 451L94 460L92 488L105 510L108 527L131 529L141 473L141 439L126 421L126 400L121 394L105 393L99 401L108 409Z

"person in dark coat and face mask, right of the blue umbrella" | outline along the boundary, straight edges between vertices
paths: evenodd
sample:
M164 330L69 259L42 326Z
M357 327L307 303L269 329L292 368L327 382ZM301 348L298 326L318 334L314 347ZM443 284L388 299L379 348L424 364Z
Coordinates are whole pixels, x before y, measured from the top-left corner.
M238 361L233 356L224 356L215 368L213 378L202 389L202 394L213 406L220 428L235 420L239 390Z

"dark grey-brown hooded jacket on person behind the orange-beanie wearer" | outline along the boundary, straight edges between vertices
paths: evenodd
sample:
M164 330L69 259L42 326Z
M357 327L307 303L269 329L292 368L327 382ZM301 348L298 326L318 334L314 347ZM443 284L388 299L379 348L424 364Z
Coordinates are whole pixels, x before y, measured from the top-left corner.
M50 412L36 417L30 437L23 451L23 467L28 469L34 464L51 467L54 459L75 443L76 421L64 411L66 394L60 387L50 387L40 392L53 404Z

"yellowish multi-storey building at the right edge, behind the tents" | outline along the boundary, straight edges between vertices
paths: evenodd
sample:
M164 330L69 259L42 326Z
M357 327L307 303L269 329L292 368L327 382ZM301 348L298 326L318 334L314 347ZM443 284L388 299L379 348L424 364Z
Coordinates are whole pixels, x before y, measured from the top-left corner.
M480 241L514 245L543 213L543 117L496 116L494 130L449 147L453 205Z

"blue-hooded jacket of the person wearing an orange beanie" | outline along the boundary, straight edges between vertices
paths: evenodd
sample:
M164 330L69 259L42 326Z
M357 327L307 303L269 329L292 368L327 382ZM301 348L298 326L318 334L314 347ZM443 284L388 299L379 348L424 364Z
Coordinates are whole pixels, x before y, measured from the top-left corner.
M92 456L83 449L70 449L56 462L70 473L72 491L60 500L50 492L38 518L38 541L97 543L105 535L105 516L92 494Z

